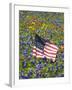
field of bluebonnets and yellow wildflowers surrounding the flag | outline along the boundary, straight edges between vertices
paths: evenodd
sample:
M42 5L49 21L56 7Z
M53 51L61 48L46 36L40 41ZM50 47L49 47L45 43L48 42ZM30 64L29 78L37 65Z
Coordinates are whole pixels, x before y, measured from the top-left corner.
M64 14L19 12L19 78L64 77ZM35 33L59 48L56 61L32 55Z

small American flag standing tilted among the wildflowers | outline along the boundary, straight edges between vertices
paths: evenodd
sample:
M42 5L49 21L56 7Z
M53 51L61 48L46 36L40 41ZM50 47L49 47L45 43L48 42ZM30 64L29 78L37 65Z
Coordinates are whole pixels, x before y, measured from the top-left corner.
M53 62L56 59L58 47L49 41L44 40L36 34L35 45L33 46L32 55L36 58L48 58Z

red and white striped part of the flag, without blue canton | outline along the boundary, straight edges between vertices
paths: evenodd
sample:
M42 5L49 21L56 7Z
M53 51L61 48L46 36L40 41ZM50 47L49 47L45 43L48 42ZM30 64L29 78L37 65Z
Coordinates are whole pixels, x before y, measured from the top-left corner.
M33 56L37 58L43 58L44 56L48 59L55 60L58 47L53 44L46 43L43 50L33 47Z

